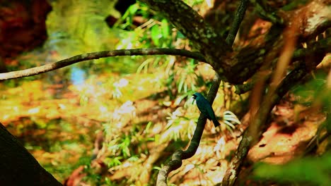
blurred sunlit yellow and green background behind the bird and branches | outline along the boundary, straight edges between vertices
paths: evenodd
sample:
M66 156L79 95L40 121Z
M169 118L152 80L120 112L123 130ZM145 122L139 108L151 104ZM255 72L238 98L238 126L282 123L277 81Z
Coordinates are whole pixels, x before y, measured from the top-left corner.
M209 1L185 2L200 13L210 8ZM178 30L144 4L133 4L121 15L114 8L116 1L50 3L47 41L14 58L8 70L41 66L93 51L191 49ZM109 15L117 18L112 27L105 21ZM141 20L139 25L135 25L137 18ZM326 76L319 73L306 85L296 87L291 92L294 103L312 106L320 100L324 111L329 112ZM84 61L50 73L1 82L0 120L60 182L153 185L171 154L187 147L199 117L191 95L206 95L213 77L209 65L178 56ZM233 92L233 86L222 82L213 107L225 125L215 129L212 123L207 124L197 154L170 175L170 182L221 182L245 127L237 125L240 121L236 116L243 116L248 95ZM324 126L330 129L329 125ZM325 128L320 131L324 134ZM257 165L255 175L249 178L286 183L312 180L312 185L323 185L330 181L329 161L325 155L286 166ZM77 170L81 172L74 175Z

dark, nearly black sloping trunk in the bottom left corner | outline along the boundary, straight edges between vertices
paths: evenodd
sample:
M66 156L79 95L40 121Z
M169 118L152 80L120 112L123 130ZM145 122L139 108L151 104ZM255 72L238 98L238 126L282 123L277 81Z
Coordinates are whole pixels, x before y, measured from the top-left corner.
M62 185L0 123L0 185Z

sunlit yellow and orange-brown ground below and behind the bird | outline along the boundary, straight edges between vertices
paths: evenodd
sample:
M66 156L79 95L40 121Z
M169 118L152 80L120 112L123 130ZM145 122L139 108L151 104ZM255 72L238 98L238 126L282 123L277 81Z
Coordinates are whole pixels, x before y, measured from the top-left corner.
M117 78L117 82L123 84L121 91L132 85L131 81L139 75L132 76ZM155 125L149 133L150 137L161 134L162 139L168 135L161 130L167 125L167 117L175 111L175 107L165 106L167 103L160 104L160 98L149 97L160 92L161 88L148 89L133 99L123 96L122 99L114 100L110 99L113 95L109 95L109 92L113 91L98 84L98 81L103 82L107 78L101 77L80 87L45 85L39 80L24 82L19 87L1 87L1 123L61 182L76 168L91 161L93 154L100 153L100 148L93 152L95 138L98 132L103 130L103 125L108 123L110 118L114 119L114 115L139 118L121 121L124 122L121 124L122 132L126 132L127 128L130 128L129 123L133 121L144 126L152 122ZM139 82L151 82L156 77L141 75L139 78ZM139 87L144 87L144 83L130 89L139 91ZM54 94L59 92L62 94L61 98L54 99ZM131 98L131 102L127 102L128 98ZM272 123L260 142L250 150L249 161L280 164L303 154L325 116L292 101L293 97L287 95L286 99L273 109ZM221 182L228 161L240 142L240 131L245 127L238 125L234 132L224 133L215 130L211 123L207 124L197 153L191 159L183 161L182 166L170 174L170 182L181 183L180 185L214 185ZM182 149L185 149L188 140L190 139L180 143ZM173 140L162 142L163 144L146 142L145 148L149 151L147 156L140 157L136 163L122 161L120 165L108 170L106 175L115 182L134 176L139 177L137 180L148 182L156 172L153 166L161 166L175 150L175 147L168 148ZM251 168L252 166L243 168L243 180L243 175L250 174ZM81 177L77 176L76 179ZM249 182L248 178L245 179Z

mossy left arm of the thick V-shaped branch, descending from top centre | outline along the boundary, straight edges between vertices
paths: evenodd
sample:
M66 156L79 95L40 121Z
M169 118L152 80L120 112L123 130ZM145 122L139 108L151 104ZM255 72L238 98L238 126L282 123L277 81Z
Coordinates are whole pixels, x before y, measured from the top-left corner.
M231 54L231 45L217 35L214 29L204 22L202 16L181 0L141 0L150 8L162 13L170 23L190 39L195 49L204 54L209 63L223 80L228 79L231 61L226 61Z

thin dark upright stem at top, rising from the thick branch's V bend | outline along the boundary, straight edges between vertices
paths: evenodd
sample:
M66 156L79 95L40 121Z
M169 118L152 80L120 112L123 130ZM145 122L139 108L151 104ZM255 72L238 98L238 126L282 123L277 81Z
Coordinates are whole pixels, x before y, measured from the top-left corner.
M243 18L245 16L245 12L248 6L248 0L241 0L240 4L237 8L237 12L235 14L233 23L231 25L231 28L228 32L228 36L226 37L226 43L228 45L232 45L234 40L236 39L237 32L240 27L241 21L243 21Z

